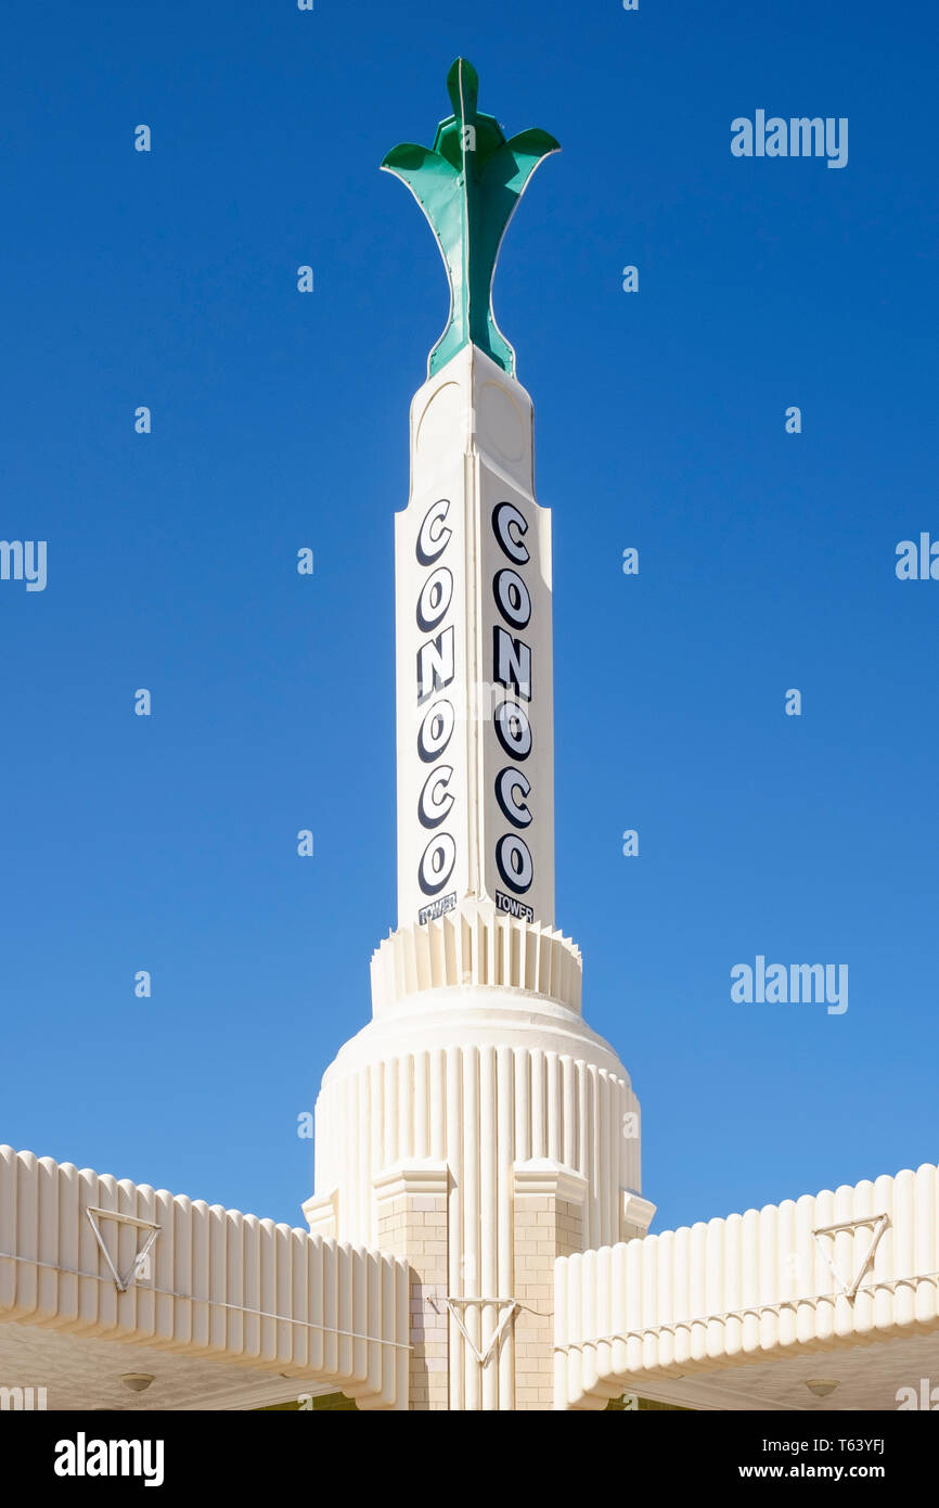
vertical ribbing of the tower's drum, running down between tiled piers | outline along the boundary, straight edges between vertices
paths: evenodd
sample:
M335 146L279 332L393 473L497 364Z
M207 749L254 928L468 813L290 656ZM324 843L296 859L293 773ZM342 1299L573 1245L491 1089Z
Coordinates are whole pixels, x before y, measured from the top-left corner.
M451 1030L461 1034L455 1022ZM497 1301L515 1297L512 1164L550 1158L580 1175L583 1240L597 1244L618 1240L622 1190L639 1182L638 1102L625 1075L561 1051L559 1031L537 1038L538 1047L454 1042L390 1053L347 1072L339 1060L317 1104L317 1188L336 1190L347 1240L380 1244L372 1184L383 1169L425 1158L428 1143L446 1161L448 1297L490 1300L458 1306L479 1351L499 1323ZM451 1408L514 1408L515 1372L511 1326L481 1366L451 1320Z

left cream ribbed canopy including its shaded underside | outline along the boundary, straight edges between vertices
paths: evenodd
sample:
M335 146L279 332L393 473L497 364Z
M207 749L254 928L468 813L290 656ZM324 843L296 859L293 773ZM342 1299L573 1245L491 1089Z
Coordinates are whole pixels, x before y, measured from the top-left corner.
M407 1303L399 1258L0 1146L0 1377L48 1408L404 1408Z

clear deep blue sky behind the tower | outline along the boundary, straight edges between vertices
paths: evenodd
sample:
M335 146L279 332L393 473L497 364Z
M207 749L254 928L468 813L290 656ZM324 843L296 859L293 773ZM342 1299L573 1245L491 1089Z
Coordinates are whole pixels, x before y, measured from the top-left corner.
M392 519L446 317L378 163L463 53L564 148L496 311L553 510L558 924L656 1228L934 1160L939 582L894 573L939 538L934 8L466 17L8 15L0 537L48 587L0 582L0 1140L300 1223L395 923ZM847 116L847 167L734 158L757 109ZM849 964L849 1010L734 1004L758 953Z

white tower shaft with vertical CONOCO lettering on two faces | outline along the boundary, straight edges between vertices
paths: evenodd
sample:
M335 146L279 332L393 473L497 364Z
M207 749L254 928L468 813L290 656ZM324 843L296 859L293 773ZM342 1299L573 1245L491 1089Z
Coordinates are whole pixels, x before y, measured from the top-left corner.
M550 514L532 403L473 345L411 404L396 517L398 921L491 900L553 926Z

